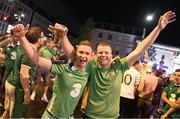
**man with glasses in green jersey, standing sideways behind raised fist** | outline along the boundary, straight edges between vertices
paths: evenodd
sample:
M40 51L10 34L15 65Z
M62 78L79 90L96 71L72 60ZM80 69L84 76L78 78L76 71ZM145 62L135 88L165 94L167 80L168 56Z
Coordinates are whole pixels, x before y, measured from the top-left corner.
M32 27L26 33L33 49L37 49L44 42L44 34L39 27ZM14 69L6 81L6 87L14 87L14 93L7 93L10 97L10 118L23 118L30 103L30 89L34 78L35 65L25 55L22 47L17 48ZM9 90L8 90L9 92ZM12 98L14 95L14 99ZM11 111L11 110L10 110Z

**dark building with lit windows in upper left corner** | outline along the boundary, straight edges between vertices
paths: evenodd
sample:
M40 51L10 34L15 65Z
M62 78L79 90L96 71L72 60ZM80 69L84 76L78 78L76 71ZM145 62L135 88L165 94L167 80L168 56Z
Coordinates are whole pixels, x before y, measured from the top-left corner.
M18 9L18 12L14 12ZM11 12L14 12L13 14ZM13 15L13 23L9 22L10 15ZM7 17L7 20L5 19ZM46 17L35 12L19 0L0 0L0 32L9 32L16 23L30 24L30 26L39 26L43 29L44 34L49 36L48 25L52 22Z

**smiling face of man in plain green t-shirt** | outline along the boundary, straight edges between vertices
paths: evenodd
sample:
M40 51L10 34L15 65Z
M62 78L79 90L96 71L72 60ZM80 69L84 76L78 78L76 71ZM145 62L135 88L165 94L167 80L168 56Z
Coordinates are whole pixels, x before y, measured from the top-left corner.
M108 68L111 65L112 49L110 45L98 45L97 61L103 68Z

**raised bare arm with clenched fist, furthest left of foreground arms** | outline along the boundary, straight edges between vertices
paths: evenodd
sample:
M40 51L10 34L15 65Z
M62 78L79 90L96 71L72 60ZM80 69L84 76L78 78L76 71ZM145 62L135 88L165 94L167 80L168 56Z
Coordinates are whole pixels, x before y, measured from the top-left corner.
M29 43L29 41L26 39L25 34L28 31L28 29L23 24L17 24L13 28L13 32L18 37L21 46L23 47L26 55L28 58L36 65L43 67L47 70L51 69L52 62L51 60L45 59L43 57L40 57L38 52L34 47L32 47L32 44Z

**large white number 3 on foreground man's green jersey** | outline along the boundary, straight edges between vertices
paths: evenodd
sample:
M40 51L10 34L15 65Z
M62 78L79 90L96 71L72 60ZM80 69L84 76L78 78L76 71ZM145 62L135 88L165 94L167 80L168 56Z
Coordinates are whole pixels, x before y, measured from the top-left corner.
M75 97L77 97L77 96L80 94L82 86L81 86L81 84L76 83L76 84L73 85L73 87L74 87L74 90L72 90L72 91L70 92L70 95L71 95L73 98L75 98Z

